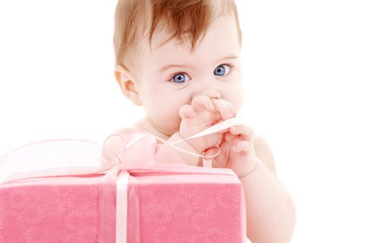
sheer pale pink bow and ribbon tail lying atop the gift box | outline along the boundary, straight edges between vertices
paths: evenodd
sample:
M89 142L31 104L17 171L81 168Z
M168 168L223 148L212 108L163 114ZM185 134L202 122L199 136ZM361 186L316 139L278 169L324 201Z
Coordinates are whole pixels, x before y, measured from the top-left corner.
M222 131L236 124L239 124L237 117L227 119L183 140ZM119 139L110 140L113 136L119 137ZM183 140L168 142L149 133L134 133L131 137L127 134L111 135L103 145L86 140L44 140L26 144L0 157L0 185L26 178L105 174L115 165L119 165L120 169L155 167L156 155L159 154L157 140L162 142L163 146L170 146L172 149L194 156L207 157L185 151L174 145ZM108 148L108 142L116 142L117 150ZM168 152L161 151L160 155L163 153ZM172 153L169 153L169 156L165 156L165 158L160 156L159 160L168 162L164 160L172 156ZM178 159L175 157L175 160ZM177 164L181 164L181 162Z

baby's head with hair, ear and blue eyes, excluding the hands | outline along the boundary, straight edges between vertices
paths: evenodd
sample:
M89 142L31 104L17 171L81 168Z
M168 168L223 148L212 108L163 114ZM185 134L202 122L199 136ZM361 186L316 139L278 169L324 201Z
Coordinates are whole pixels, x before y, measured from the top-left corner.
M243 105L241 29L234 0L119 0L115 78L165 135L197 94Z

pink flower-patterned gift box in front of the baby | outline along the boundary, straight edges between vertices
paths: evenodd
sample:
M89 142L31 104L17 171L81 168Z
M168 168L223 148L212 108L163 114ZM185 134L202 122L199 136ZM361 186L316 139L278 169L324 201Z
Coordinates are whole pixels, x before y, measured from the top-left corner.
M243 185L232 169L32 173L0 180L0 242L246 242Z

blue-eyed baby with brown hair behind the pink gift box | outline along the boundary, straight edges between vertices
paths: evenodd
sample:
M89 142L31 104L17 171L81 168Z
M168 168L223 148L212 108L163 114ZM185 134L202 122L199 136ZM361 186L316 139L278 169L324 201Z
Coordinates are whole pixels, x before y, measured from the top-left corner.
M115 11L115 78L146 116L129 128L170 142L236 117L243 105L241 29L233 0L119 0ZM245 124L175 144L212 156L245 188L248 238L289 242L291 196L279 182L266 141ZM176 151L188 165L202 159Z

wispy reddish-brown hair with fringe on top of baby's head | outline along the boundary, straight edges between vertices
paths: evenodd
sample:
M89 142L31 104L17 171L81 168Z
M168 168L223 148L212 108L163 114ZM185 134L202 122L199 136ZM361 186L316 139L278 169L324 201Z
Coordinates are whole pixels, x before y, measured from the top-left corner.
M199 40L222 15L234 17L236 23L230 25L239 29L234 1L141 0L137 3L120 0L115 11L113 37L116 63L136 66L146 53L163 52L161 49L167 42L172 42L175 50L193 55L195 49L199 49Z

